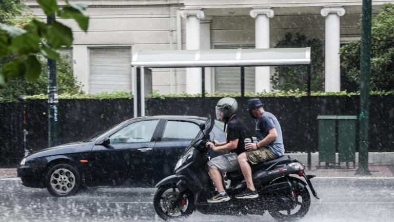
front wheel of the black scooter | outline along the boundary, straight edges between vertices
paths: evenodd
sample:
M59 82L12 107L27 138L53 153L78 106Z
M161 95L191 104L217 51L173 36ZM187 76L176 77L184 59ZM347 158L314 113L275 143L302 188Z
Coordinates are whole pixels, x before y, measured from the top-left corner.
M153 206L157 215L164 220L170 220L192 214L195 209L193 194L190 191L183 192L178 202L180 194L176 184L166 184L157 189L153 197Z

